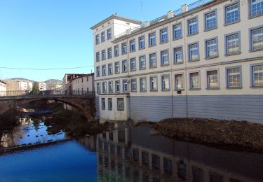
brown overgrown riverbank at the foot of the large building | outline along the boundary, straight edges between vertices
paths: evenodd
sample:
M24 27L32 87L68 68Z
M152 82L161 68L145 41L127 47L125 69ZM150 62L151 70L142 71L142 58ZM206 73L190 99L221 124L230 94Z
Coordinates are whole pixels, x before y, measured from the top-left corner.
M139 123L138 125L142 125ZM263 125L234 120L169 118L149 124L153 134L230 150L263 153Z

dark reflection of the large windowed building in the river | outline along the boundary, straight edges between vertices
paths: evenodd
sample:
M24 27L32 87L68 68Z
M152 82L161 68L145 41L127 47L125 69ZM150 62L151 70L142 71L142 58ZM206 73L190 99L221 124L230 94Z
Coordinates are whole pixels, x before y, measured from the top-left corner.
M222 151L133 127L83 139L97 150L99 181L262 181L263 155Z

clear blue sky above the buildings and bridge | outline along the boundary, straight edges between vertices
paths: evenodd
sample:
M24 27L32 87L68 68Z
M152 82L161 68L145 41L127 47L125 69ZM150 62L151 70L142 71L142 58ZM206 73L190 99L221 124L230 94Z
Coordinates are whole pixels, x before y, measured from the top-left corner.
M130 3L132 2L132 3ZM136 20L152 20L194 1L141 0L1 0L0 67L68 68L68 70L1 69L0 79L62 79L65 73L93 69L90 27L113 13Z

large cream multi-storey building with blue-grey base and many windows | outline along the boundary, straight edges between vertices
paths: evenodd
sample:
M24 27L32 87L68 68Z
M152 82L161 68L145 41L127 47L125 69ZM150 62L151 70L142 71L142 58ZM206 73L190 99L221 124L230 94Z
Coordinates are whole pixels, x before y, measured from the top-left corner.
M262 15L261 0L214 0L149 22L112 15L97 23L97 116L263 123Z

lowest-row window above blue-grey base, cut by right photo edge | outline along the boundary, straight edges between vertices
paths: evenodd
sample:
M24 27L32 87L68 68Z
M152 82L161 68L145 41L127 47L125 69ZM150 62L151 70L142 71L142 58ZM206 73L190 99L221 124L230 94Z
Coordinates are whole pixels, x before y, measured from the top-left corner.
M252 65L252 87L263 86L263 64Z

